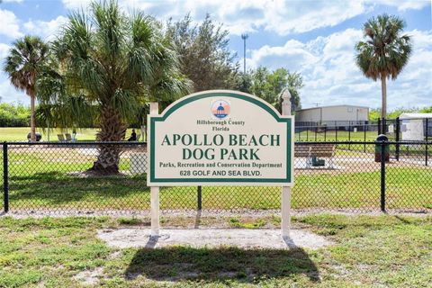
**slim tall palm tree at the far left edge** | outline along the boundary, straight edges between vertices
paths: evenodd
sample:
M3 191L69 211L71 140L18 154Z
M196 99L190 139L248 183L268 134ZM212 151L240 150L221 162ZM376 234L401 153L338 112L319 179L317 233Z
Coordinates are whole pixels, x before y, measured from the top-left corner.
M31 140L36 139L34 120L35 85L40 67L48 56L49 47L39 37L24 36L16 40L4 62L4 72L9 75L12 85L30 96Z

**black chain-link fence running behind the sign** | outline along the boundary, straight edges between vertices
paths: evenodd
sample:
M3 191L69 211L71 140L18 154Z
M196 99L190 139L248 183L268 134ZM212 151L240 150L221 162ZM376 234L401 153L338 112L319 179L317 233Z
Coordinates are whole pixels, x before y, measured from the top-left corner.
M296 142L293 210L432 211L431 145L386 140ZM2 148L5 212L148 214L146 143L4 142ZM191 186L160 191L163 212L276 212L280 207L281 187Z

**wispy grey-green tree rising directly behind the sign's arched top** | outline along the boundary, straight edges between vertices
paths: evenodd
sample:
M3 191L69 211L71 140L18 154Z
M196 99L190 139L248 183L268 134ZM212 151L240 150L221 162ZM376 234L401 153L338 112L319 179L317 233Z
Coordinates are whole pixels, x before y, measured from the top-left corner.
M215 25L209 14L194 25L187 14L183 20L167 23L167 34L175 42L181 71L193 81L195 92L232 89L236 86L238 64L229 51L229 32Z

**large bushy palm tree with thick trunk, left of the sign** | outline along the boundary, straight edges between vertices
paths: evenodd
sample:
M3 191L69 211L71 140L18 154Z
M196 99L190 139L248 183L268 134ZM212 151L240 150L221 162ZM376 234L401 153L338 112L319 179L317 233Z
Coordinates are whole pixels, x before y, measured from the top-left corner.
M121 141L143 104L172 101L190 83L154 18L124 14L115 1L94 2L88 11L71 14L52 43L56 59L40 78L41 103L53 104L69 125L94 117L98 141ZM91 170L118 173L120 153L118 146L99 146Z

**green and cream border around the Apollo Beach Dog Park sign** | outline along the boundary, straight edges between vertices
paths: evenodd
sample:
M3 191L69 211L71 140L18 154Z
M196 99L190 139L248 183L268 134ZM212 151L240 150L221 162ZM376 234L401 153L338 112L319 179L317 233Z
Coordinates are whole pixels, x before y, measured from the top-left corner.
M209 177L208 179L192 179L192 178L157 178L155 176L155 138L154 130L157 129L157 121L166 121L169 115L175 112L177 109L181 109L182 106L192 103L193 101L200 100L202 98L211 98L211 97L234 97L249 103L254 103L260 108L263 108L266 112L271 114L275 121L285 122L286 123L286 147L281 147L281 149L286 149L286 162L285 166L287 169L287 173L285 174L285 178L277 178L277 179L263 179L263 178L248 178L244 179L242 177L238 178L221 178L215 179L213 177ZM246 94L238 91L232 90L209 90L203 91L199 93L194 93L187 95L177 101L175 103L170 104L164 112L160 114L150 113L148 115L148 155L149 155L149 163L148 163L148 186L193 186L193 185L260 185L260 186L284 186L291 187L294 184L294 176L293 176L293 158L294 158L294 118L291 115L281 115L275 108L266 103L266 101L258 98L257 96Z

